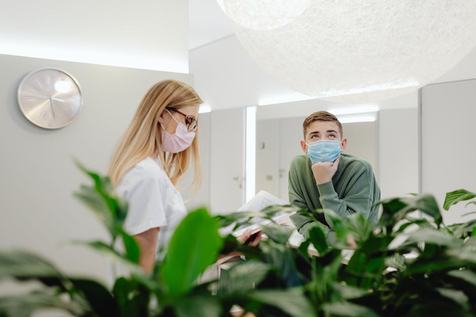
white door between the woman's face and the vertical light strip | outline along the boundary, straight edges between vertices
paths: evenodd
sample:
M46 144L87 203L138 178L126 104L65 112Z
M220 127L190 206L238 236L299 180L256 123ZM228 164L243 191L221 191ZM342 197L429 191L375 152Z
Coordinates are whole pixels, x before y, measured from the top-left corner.
M210 210L226 214L245 203L245 108L211 112Z

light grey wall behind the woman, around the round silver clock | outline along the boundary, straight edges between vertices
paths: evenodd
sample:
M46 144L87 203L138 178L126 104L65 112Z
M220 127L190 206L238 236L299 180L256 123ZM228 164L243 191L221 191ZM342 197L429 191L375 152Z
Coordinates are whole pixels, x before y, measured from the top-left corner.
M70 125L46 130L32 125L18 108L20 80L32 70L58 67L80 82L83 110ZM106 260L69 240L106 237L99 221L72 192L90 181L74 165L107 172L112 148L147 89L192 75L0 55L0 248L33 250L68 273L105 280Z

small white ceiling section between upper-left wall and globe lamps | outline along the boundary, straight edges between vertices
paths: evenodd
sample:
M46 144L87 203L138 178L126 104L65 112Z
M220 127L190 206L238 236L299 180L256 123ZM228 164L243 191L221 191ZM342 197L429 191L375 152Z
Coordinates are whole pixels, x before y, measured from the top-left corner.
M189 0L188 49L193 50L233 34L216 0Z

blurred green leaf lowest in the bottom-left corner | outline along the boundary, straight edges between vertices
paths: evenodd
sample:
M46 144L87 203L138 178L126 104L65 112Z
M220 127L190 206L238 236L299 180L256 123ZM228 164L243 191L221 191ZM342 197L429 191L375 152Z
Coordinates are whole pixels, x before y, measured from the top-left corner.
M0 297L0 315L29 317L33 312L44 308L56 308L69 312L74 316L86 316L90 308L78 301L60 298L57 294L46 291L35 291L22 295Z

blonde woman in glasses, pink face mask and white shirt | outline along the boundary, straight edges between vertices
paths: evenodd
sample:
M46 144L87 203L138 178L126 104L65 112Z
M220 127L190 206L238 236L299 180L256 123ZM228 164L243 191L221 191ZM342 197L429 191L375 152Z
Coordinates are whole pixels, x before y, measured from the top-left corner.
M197 122L202 99L177 80L153 85L143 97L112 155L109 177L129 202L126 231L140 248L139 264L151 273L156 251L166 248L187 211L177 182L191 161L195 191L202 180ZM249 233L239 240L246 241ZM251 245L259 243L259 237Z

